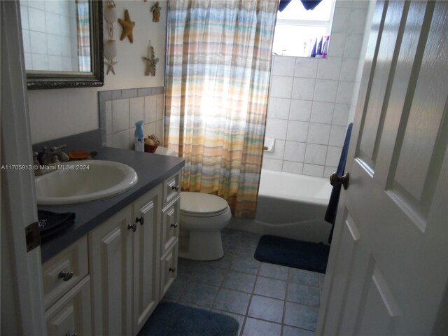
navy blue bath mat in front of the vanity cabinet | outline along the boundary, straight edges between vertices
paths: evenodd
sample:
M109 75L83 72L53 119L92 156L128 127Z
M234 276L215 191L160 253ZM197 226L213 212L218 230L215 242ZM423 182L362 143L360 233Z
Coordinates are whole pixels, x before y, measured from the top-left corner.
M137 336L236 336L238 328L232 316L160 302Z

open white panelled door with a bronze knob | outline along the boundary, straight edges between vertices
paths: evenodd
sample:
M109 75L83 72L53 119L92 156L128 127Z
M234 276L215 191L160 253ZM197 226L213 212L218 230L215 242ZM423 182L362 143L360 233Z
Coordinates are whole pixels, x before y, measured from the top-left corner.
M447 97L448 2L377 1L317 335L438 331L448 304Z

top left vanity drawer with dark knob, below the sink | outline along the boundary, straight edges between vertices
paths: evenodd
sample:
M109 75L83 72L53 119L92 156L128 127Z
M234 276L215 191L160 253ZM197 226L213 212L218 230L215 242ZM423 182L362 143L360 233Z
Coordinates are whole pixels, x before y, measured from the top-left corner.
M87 236L71 244L42 266L45 309L87 275Z

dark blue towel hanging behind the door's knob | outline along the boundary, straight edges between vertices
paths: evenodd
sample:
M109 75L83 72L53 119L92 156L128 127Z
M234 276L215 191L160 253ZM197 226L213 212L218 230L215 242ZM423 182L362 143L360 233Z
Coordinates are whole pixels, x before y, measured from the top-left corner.
M342 147L342 152L341 152L341 158L339 158L339 165L337 165L337 171L336 171L337 176L342 176L342 175L344 175L344 172L345 172L345 163L347 160L347 155L349 153L349 144L350 144L352 127L353 127L353 123L350 123L349 127L347 127L347 132L345 134L345 140L344 140L344 146ZM339 195L341 194L341 188L342 188L342 185L340 183L337 183L335 186L333 186L333 188L331 190L330 201L328 202L327 211L325 213L325 221L327 221L328 223L331 223L331 225L332 225L330 237L328 237L329 244L331 244L333 230L335 228L337 204L339 203Z

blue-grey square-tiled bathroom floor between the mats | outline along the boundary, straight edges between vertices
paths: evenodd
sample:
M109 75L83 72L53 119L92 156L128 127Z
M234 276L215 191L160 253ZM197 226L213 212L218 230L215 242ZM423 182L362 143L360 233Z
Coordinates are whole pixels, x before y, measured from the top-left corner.
M177 279L163 300L233 316L240 336L314 335L323 274L258 262L258 239L226 229L220 260L179 258Z

